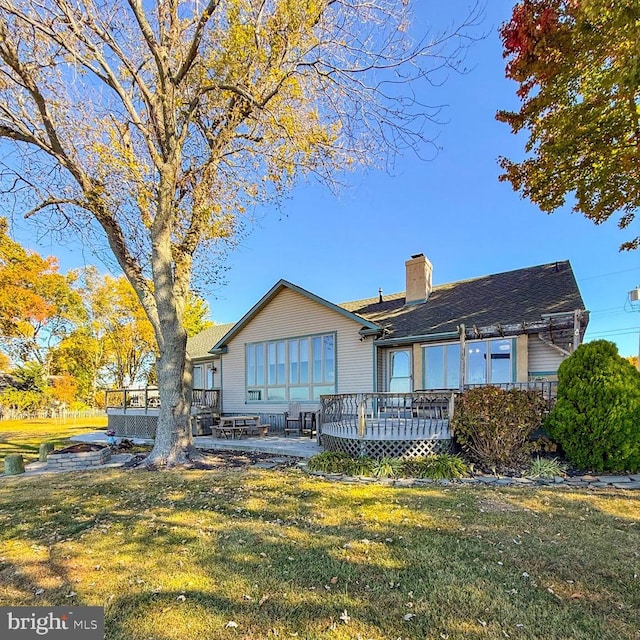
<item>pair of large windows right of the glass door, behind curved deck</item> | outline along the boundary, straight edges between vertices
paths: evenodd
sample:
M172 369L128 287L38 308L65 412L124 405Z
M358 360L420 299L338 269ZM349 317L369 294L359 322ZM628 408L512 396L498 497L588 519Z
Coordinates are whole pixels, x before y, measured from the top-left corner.
M513 381L513 340L471 340L466 343L465 384L501 384ZM423 387L457 389L460 386L460 344L423 347Z

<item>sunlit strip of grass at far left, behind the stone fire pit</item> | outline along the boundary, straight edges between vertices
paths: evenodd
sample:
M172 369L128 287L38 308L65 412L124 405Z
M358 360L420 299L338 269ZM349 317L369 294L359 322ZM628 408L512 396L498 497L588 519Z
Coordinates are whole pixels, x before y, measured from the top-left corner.
M106 416L0 420L0 472L4 472L4 457L10 453L22 454L25 464L29 464L38 459L38 450L43 442L53 442L56 448L60 448L70 444L71 436L102 429L106 425Z

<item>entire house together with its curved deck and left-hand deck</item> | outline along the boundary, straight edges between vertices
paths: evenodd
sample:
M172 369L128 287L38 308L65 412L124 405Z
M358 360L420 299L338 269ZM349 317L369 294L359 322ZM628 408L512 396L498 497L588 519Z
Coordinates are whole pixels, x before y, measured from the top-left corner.
M405 275L401 293L342 304L280 280L238 322L191 338L194 433L221 414L258 415L270 433L282 431L296 402L327 449L446 450L456 392L486 384L551 391L587 328L568 261L434 286L418 254ZM153 393L157 400L157 390L107 392L110 428L153 437Z

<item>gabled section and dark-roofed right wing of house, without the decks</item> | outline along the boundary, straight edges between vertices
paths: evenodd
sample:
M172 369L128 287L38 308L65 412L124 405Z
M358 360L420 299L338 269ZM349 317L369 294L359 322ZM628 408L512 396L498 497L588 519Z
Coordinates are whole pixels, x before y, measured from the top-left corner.
M583 339L568 261L436 286L423 254L405 269L404 292L342 304L277 282L198 358L216 371L222 411L273 422L322 395L555 380Z

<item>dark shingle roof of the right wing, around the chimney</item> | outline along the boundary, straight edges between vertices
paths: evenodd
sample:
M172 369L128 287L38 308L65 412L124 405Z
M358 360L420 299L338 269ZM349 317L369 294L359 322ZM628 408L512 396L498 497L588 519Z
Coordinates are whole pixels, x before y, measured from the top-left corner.
M405 338L456 331L458 325L486 327L535 322L543 315L584 310L568 261L516 269L443 284L429 299L405 306L405 294L346 302L344 309L385 328L384 337Z

